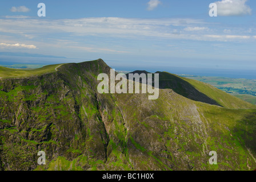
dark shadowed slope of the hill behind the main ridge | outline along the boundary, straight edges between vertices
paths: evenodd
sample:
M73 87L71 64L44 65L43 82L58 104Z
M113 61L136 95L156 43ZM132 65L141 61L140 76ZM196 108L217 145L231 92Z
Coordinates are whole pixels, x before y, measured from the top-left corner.
M146 71L134 71L131 73L149 73ZM180 94L183 97L189 98L193 101L205 102L211 105L219 105L215 100L206 96L205 94L199 92L197 89L194 88L189 82L179 78L178 76L172 75L167 72L155 72L159 73L159 88L160 89L172 89L177 94ZM127 78L129 78L129 73L126 74ZM154 77L154 76L153 76ZM153 78L154 81L154 78ZM141 80L140 80L141 82ZM153 84L154 86L154 84Z

